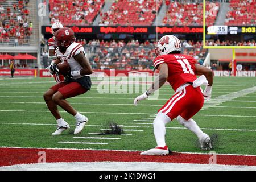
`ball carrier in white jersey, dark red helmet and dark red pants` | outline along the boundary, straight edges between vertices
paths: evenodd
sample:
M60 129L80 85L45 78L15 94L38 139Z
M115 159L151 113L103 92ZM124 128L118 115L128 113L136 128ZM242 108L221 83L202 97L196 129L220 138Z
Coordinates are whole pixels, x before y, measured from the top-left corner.
M72 114L76 119L74 134L78 134L84 128L85 123L88 122L88 118L73 109L65 99L84 94L90 90L92 83L89 75L92 74L92 67L86 57L84 47L79 43L75 43L76 38L71 28L60 28L55 32L54 38L57 59L49 67L49 72L59 75L57 64L63 61L68 62L70 71L65 75L64 82L53 85L44 94L44 100L58 125L57 130L52 135L60 135L69 128L69 124L61 117L57 105Z

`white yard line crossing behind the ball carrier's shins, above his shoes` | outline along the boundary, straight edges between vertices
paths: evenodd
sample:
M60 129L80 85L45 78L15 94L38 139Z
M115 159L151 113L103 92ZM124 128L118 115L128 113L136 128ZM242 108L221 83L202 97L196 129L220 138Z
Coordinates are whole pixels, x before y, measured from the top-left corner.
M43 111L43 110L0 110L1 112L23 112L23 113L49 113L49 111ZM60 113L67 113L66 111L59 111ZM79 113L88 113L88 114L147 114L151 115L150 113L108 113L108 112L85 112L85 111L79 111ZM197 114L195 116L209 116L209 117L245 117L245 118L256 118L256 115L210 115L210 114ZM155 117L155 115L153 116ZM86 125L88 126L88 125Z

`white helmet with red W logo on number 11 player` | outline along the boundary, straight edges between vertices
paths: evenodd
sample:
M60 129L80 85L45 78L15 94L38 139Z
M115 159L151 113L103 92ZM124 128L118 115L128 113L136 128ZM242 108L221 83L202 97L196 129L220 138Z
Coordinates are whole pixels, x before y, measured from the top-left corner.
M164 35L155 48L155 55L167 55L172 51L181 51L181 42L174 35Z

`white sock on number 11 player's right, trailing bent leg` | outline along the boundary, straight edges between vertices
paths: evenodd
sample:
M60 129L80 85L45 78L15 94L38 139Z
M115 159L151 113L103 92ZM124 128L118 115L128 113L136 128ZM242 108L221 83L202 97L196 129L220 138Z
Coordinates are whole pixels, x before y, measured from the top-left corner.
M187 129L195 133L198 138L200 138L200 136L203 134L203 131L200 129L200 127L196 124L196 122L192 118L185 120L179 115L177 117L177 121L179 121L179 123L185 126Z

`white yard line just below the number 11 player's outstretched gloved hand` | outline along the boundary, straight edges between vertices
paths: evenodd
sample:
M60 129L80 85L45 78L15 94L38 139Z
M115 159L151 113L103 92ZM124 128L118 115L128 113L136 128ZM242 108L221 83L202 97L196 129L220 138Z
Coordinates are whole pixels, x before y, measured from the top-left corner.
M10 103L10 104L46 104L46 102L16 102L16 101L0 101L0 103ZM134 104L108 104L108 103L79 103L71 102L72 105L124 105L124 106L134 106ZM139 104L138 106L163 106L155 104ZM237 107L237 106L212 106L205 104L207 107L220 107L220 108L239 108L239 109L256 109L256 107Z

